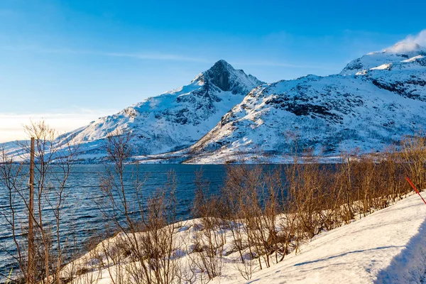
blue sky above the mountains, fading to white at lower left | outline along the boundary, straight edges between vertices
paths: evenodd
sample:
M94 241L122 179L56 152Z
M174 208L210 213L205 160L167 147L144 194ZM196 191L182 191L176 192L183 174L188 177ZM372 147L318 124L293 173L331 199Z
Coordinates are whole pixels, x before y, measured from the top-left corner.
M0 142L70 131L214 62L275 82L426 38L426 1L0 0Z

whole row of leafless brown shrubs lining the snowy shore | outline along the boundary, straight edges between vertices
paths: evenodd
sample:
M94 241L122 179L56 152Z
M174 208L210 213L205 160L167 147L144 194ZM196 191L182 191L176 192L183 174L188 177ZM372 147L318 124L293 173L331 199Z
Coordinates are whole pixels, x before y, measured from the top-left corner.
M249 280L253 271L283 261L292 251L298 253L300 245L317 234L402 198L410 190L404 181L406 175L420 188L426 186L422 136L408 137L400 148L391 147L380 154L342 153L342 163L337 165L321 164L320 155L313 151L300 155L297 136L289 136L292 164L283 168L226 165L219 195L212 194L201 171L196 174L192 216L197 219L187 229L190 242L181 251L175 173L168 173L164 187L150 194L143 192L144 179L139 177L137 165L130 179L125 176L133 153L131 134L117 131L107 138L109 163L99 178L102 195L97 200L112 224L113 229L107 231L116 233L97 246L92 244L87 255L90 263L75 261L64 269L72 236L66 236L64 244L59 228L72 159L53 152L58 144L52 142L53 132L44 124L33 125L28 131L38 137L35 278L44 283L94 283L102 270L114 284L208 283L222 275L224 258L231 255L241 276ZM65 145L61 143L60 149ZM72 151L67 149L67 153ZM55 171L54 161L58 163ZM3 151L0 178L9 206L0 213L11 228L22 275L28 278L28 246L22 238L26 228L21 226L14 202L16 198L23 200L28 208L26 180L21 178L25 173L25 166L13 163ZM53 214L53 225L45 223L46 207Z

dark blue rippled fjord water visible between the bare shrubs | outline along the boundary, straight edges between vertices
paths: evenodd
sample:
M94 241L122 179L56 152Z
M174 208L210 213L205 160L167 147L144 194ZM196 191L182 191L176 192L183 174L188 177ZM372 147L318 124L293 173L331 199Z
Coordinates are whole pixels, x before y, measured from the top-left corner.
M142 192L144 197L149 197L165 186L168 173L174 171L177 182L175 196L178 201L178 219L187 219L190 217L190 207L195 192L195 173L198 170L202 170L203 178L209 181L211 192L219 192L226 174L223 165L128 165L124 173L124 182L129 185L127 190L131 192L131 179L137 171L139 178L146 178ZM61 228L63 235L68 236L69 240L75 239L78 248L82 248L91 236L102 235L109 221L104 219L97 205L97 200L102 195L99 176L104 173L104 165L75 165L67 182L65 189L67 197L62 209ZM28 218L25 207L18 197L15 201L20 204L16 207L21 213L18 226L24 226ZM9 196L6 188L0 183L0 209L6 209L8 204ZM49 216L47 204L45 211L45 216ZM53 221L52 218L51 222ZM54 224L51 223L51 225ZM13 266L16 268L16 261L13 261L5 251L13 251L14 248L9 228L6 226L5 217L0 215L0 275L7 275Z

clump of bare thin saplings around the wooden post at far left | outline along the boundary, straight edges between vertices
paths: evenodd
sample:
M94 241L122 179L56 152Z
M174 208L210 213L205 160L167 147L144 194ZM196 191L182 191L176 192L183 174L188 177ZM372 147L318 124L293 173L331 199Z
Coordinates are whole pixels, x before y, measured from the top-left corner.
M31 122L25 126L28 136L35 140L35 212L30 214L35 230L35 263L36 275L26 267L28 253L25 248L28 240L25 236L27 226L18 226L24 213L22 208L30 209L27 193L28 167L26 165L31 155L31 145L20 143L19 155L2 151L0 165L1 181L8 190L9 207L1 214L6 217L16 245L16 259L19 263L21 275L26 281L41 281L43 283L61 283L60 268L65 259L64 252L69 249L67 241L61 230L62 217L66 202L67 180L70 177L72 162L77 155L78 146L70 143L70 138L58 136L44 121ZM16 162L14 158L21 159ZM19 211L17 208L21 208ZM51 225L53 223L53 226ZM21 223L20 225L24 225ZM66 234L66 233L65 233ZM31 237L31 236L29 236ZM33 256L32 256L33 257ZM28 275L28 273L31 275Z

